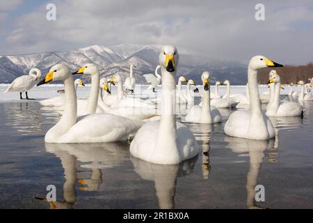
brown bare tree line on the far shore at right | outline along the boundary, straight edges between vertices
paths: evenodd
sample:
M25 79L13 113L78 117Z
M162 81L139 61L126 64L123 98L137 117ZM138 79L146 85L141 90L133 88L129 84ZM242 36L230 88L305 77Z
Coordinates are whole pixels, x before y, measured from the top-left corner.
M284 66L282 68L264 68L259 70L258 78L260 84L268 82L268 74L271 70L276 70L282 84L296 84L298 81L308 83L308 79L313 77L313 62L303 66Z

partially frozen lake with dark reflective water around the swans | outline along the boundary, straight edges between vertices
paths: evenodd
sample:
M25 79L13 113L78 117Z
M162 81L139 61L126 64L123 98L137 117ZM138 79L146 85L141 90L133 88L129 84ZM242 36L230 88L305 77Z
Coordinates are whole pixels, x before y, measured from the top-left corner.
M29 96L50 98L61 88L40 86ZM227 137L223 127L234 110L221 109L223 123L187 124L203 153L179 165L157 165L131 157L128 141L45 144L60 116L5 89L0 85L0 208L50 208L35 199L46 196L47 185L56 186L56 208L313 208L313 102L305 102L303 119L272 118L278 137L270 141ZM88 91L80 88L79 98ZM264 202L254 201L256 185L264 186Z

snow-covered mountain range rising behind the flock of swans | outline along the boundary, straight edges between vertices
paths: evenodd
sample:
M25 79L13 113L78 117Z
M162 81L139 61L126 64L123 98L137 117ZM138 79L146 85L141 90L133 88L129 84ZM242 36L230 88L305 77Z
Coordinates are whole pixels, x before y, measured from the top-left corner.
M40 54L24 54L0 57L0 83L10 83L16 77L24 75L33 67L45 74L56 63L65 63L71 71L75 71L86 63L96 63L102 77L111 77L118 73L123 79L129 75L129 65L134 63L136 82L147 84L143 74L154 73L159 58L160 45L121 44L111 47L93 45L81 49L63 52ZM236 61L220 61L195 56L187 50L179 50L178 75L193 79L200 84L203 70L211 72L212 82L216 79L229 79L232 84L246 84L246 65ZM88 77L83 76L88 81Z

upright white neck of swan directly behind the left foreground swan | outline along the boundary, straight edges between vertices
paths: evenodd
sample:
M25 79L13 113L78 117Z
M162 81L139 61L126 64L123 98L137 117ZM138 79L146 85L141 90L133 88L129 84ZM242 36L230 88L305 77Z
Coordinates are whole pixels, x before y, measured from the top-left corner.
M87 105L87 114L94 114L97 110L97 102L99 95L99 82L100 82L100 74L99 70L95 71L93 75L91 75L91 89L88 99Z

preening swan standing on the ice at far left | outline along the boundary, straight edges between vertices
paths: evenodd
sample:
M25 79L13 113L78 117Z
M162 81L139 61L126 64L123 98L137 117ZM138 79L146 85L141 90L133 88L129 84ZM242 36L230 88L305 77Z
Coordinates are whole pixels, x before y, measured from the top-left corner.
M37 84L40 77L41 71L38 68L33 68L29 71L29 75L17 77L4 92L19 92L20 99L32 100L32 98L29 98L27 91ZM22 98L22 92L25 92L26 98Z

